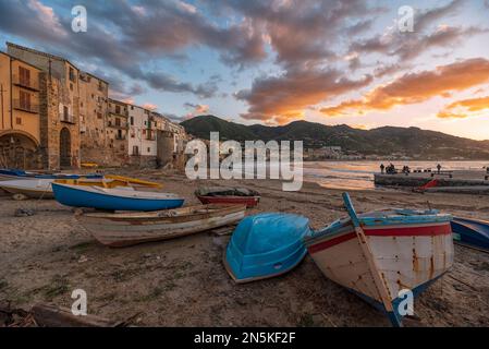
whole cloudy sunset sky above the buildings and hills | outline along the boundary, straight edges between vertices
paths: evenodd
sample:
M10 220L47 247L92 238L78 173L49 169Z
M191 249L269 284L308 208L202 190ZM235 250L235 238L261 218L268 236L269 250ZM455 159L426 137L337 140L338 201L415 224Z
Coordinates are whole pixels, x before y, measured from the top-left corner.
M63 56L175 121L489 140L488 19L489 0L0 0L0 50Z

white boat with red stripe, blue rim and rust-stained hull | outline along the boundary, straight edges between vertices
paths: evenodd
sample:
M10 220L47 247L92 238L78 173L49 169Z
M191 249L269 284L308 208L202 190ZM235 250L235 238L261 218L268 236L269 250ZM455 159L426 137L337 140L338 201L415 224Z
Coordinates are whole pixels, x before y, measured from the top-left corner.
M329 279L401 325L404 292L418 296L453 264L452 216L413 209L356 216L344 198L351 218L311 232L307 250Z

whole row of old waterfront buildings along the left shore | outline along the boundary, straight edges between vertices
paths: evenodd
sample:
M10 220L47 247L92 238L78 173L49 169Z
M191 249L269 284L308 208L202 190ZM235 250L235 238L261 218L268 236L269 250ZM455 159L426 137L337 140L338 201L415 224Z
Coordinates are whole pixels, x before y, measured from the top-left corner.
M0 52L0 167L182 163L187 135L180 124L110 99L108 82L65 58L7 46Z

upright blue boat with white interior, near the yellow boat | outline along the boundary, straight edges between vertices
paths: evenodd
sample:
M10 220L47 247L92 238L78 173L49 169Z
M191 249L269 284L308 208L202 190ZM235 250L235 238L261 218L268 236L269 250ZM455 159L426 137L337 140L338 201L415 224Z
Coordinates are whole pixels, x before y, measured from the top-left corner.
M136 191L127 188L100 188L52 183L54 198L72 207L107 210L158 210L178 208L184 200L175 194Z

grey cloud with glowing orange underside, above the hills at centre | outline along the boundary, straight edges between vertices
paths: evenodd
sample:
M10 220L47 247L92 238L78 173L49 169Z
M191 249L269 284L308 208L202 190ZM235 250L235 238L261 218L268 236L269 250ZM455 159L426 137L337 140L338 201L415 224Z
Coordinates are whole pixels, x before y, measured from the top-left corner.
M249 91L241 91L236 98L249 104L245 119L270 120L284 123L304 117L314 106L349 91L368 85L371 76L350 80L337 70L289 71L282 76L256 80Z

